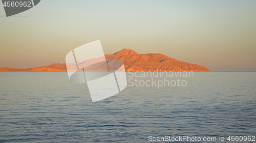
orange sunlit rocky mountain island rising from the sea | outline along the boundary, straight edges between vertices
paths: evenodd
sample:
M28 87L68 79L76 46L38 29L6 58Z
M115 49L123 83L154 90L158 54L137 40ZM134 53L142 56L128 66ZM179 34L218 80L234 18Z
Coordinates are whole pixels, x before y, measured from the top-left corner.
M118 59L123 61L125 71L210 71L206 67L189 64L170 58L161 53L139 54L131 49L122 49L114 54L105 54L106 60ZM51 64L48 66L17 69L0 67L0 71L67 71L66 64Z

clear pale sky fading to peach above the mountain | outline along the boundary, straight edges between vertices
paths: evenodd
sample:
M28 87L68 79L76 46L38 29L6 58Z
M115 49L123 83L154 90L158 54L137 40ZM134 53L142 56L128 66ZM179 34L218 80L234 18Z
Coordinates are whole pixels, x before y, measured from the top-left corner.
M42 0L6 17L0 6L0 67L65 63L72 49L100 40L163 53L211 71L256 71L256 1Z

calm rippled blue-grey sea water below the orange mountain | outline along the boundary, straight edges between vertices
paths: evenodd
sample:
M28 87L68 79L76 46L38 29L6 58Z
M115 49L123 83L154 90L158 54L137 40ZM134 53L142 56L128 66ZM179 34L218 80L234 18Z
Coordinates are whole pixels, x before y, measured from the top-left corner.
M93 103L66 72L0 72L0 142L256 136L256 72L194 74L186 87L127 86Z

